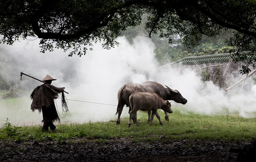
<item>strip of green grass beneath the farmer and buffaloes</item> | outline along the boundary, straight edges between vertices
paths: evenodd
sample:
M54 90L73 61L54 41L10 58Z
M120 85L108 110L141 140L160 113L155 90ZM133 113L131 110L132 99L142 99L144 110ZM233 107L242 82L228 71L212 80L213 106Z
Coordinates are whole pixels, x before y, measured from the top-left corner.
M128 117L116 122L72 123L57 125L57 130L42 132L41 125L23 126L15 130L11 136L7 134L7 127L0 128L1 140L55 140L61 142L66 139L86 137L90 139L110 139L116 137L129 137L136 140L182 140L182 139L209 139L245 141L256 136L256 123L254 118L242 118L237 115L197 115L192 112L181 113L175 110L170 114L170 121L164 120L164 113L159 112L164 125L160 125L154 118L152 126L147 122L146 113L138 113L139 127L136 124L127 127ZM7 125L7 124L5 124ZM10 123L11 125L11 123ZM9 125L9 127L10 127ZM12 126L12 125L11 125Z

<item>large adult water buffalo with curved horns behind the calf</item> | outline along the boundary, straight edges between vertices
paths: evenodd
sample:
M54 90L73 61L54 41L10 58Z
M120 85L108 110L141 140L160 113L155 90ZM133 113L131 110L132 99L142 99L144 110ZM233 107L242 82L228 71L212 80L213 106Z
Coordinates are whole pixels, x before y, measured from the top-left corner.
M167 87L167 86L166 86ZM186 104L187 100L182 97L180 92L178 90L172 90L171 88L167 87L164 88L161 84L154 82L154 81L145 81L141 84L138 83L127 83L123 87L121 87L118 91L117 99L118 99L118 105L116 114L118 113L118 117L116 120L116 124L120 124L120 116L123 111L124 105L129 107L129 97L134 92L154 92L157 95L159 95L163 100L173 100L178 103ZM129 112L131 110L129 109ZM169 116L166 111L165 113L165 119L169 120ZM151 121L150 119L151 111L148 111L148 121Z

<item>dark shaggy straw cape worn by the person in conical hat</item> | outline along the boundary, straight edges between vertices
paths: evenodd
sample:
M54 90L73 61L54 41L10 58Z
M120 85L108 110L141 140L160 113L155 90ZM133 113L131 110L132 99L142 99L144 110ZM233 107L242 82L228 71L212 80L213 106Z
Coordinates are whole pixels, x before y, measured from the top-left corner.
M33 99L31 103L31 110L35 111L36 109L41 112L42 107L46 107L46 116L42 122L45 121L59 121L60 118L55 108L54 100L59 95L58 93L64 92L64 88L57 88L52 86L51 84L42 84L37 86L33 92L31 93L30 97Z

